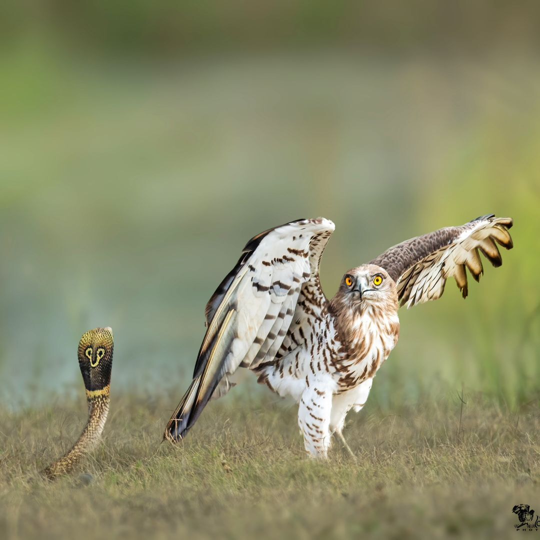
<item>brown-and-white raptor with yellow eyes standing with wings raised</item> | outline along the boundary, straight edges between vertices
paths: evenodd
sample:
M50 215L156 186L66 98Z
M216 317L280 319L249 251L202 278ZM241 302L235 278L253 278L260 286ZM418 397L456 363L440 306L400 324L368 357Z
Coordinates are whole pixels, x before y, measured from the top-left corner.
M234 385L241 368L299 403L309 456L327 456L350 409L366 403L373 378L399 338L398 308L440 298L448 278L467 296L467 267L478 281L479 251L502 264L511 218L484 215L387 249L343 275L328 300L321 255L334 231L325 218L300 219L253 237L206 306L206 334L193 381L165 429L179 441L211 399Z

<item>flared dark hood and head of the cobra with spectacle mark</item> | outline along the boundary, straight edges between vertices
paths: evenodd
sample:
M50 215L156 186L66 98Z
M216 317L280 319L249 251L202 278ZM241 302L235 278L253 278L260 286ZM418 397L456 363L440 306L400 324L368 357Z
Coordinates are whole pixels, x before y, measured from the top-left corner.
M77 356L87 393L103 390L109 386L113 347L110 327L94 328L80 338Z

